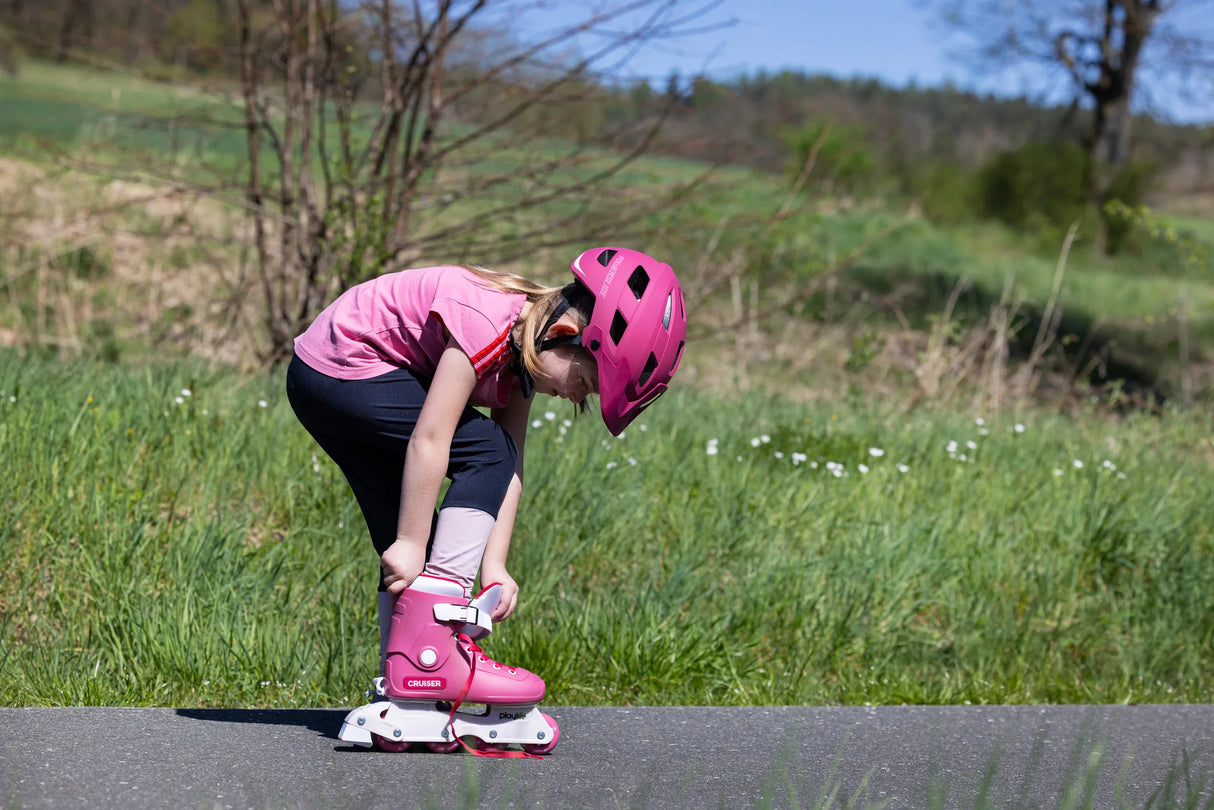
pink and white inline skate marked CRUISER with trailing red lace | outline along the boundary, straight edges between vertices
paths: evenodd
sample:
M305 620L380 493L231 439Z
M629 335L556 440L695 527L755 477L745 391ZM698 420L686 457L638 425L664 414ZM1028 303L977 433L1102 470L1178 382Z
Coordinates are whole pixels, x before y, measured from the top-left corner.
M556 721L538 708L544 681L506 667L476 645L493 629L489 618L501 597L492 585L471 602L459 583L421 574L392 608L384 678L385 698L346 715L337 737L356 746L404 750L425 743L433 752L463 744L475 753L522 755L556 748ZM480 706L471 710L470 704Z

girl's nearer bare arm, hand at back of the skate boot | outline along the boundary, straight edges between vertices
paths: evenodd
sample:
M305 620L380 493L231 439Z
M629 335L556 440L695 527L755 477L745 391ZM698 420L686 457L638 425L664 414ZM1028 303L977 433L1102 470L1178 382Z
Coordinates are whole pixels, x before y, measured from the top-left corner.
M447 341L404 454L396 542L384 551L384 584L399 594L426 566L426 542L447 476L452 437L476 387L476 370L454 340Z

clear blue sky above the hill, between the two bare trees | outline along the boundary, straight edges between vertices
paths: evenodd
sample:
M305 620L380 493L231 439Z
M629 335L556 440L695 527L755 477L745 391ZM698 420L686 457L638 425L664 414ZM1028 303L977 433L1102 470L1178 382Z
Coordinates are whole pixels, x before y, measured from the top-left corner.
M584 21L588 10L618 7L624 2L539 0L541 11L533 16L518 15L515 22L534 34L543 34ZM1061 72L1050 80L1043 80L1042 70L975 74L963 61L949 57L958 50L958 41L940 24L937 12L914 0L719 0L715 5L713 0L680 0L676 9L687 11L707 6L711 7L690 27L722 26L642 49L613 73L643 77L660 84L673 70L682 75L707 73L728 79L753 75L760 69L789 68L843 78L872 77L894 86L912 81L919 86L940 86L951 81L968 90L1044 96L1054 102L1071 97L1071 86ZM584 41L583 50L592 44ZM1056 90L1045 95L1050 86ZM1184 120L1214 119L1214 104L1195 108L1158 103Z

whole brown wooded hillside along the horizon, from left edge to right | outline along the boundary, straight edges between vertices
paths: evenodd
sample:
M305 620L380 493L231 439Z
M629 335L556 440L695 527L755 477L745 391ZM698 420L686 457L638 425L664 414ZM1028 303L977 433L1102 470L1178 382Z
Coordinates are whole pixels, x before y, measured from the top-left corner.
M272 24L273 4L249 5L262 22L259 47L273 52L283 38ZM161 79L236 81L234 18L231 0L6 0L0 5L0 64L16 70L18 57L25 56L121 66ZM350 58L341 75L330 79L374 100L379 96L374 32L365 18L350 19L340 28ZM454 112L469 123L477 123L478 114L492 107L486 100L550 75L541 66L521 64L509 74L486 77L478 55L499 45L517 47L517 40L509 32L480 28L449 55L448 83L459 86L463 78L467 84ZM631 146L666 113L651 152L795 171L790 164L796 162L799 132L844 128L849 140L863 145L873 171L903 187L925 162L972 168L1026 143L1074 142L1091 115L1074 104L1043 107L951 86L894 87L877 79L787 70L727 80L671 77L663 90L642 83L620 85L588 66L583 80L566 81L560 94L535 104L520 123L580 143ZM1134 159L1150 165L1156 189L1167 194L1214 189L1214 128L1140 115L1134 132Z

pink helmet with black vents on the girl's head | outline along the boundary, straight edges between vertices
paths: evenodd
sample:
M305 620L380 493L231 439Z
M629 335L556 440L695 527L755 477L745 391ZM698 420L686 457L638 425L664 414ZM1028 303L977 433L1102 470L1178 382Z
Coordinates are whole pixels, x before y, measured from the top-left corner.
M670 265L639 250L592 248L571 267L595 299L580 342L599 363L603 423L619 436L679 367L687 338L682 290Z

